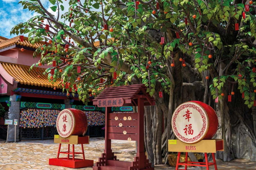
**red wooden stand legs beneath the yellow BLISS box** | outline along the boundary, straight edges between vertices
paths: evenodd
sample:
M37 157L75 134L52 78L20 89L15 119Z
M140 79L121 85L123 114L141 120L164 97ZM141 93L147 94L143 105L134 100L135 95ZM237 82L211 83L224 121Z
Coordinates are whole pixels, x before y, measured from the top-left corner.
M188 161L188 152L186 152L185 161L180 162L180 152L178 152L175 170L178 170L179 165L185 165L185 169L182 169L182 170L187 170L187 166L203 166L203 167L206 167L206 170L209 170L209 166L212 166L212 165L214 165L215 170L218 170L214 153L211 153L211 154L212 154L213 162L208 162L207 153L204 153L205 162L189 162Z

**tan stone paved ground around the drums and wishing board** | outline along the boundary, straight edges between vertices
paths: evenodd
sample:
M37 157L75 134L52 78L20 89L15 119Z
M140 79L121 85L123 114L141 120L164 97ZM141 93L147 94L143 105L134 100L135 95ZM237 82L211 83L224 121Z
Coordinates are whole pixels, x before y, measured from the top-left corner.
M90 140L89 145L84 145L86 157L96 162L103 152L104 140L102 138L91 138ZM112 143L112 150L117 152L116 156L119 160L133 161L135 142L115 140ZM56 157L57 150L58 144L54 144L53 140L22 141L18 143L4 143L3 140L0 140L0 170L70 169L48 165L48 159ZM67 150L67 147L63 147L63 150ZM77 145L75 150L80 150L80 147ZM91 167L81 169L92 170ZM200 168L194 167L189 169L197 170ZM210 168L210 170L213 169L213 167ZM155 170L174 170L174 167L160 165L156 166ZM218 170L256 170L256 162L244 159L236 159L231 162L218 160Z

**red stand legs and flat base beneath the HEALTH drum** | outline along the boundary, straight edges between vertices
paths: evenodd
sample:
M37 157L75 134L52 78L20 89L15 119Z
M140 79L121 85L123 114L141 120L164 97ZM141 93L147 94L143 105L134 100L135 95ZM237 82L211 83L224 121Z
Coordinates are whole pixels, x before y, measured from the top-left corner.
M88 136L86 136L88 137ZM59 137L58 137L59 138ZM85 138L84 137L78 137L79 138ZM64 139L65 140L65 139ZM54 139L55 141L55 139ZM73 142L71 142L72 144ZM70 144L68 144L68 151L60 151L61 149L61 143L59 144L58 154L57 158L50 158L49 159L49 165L55 165L55 166L63 166L63 167L69 167L69 168L83 168L83 167L90 167L93 166L93 160L87 160L84 156L84 146L83 143L80 143L82 147L82 152L75 152L75 146L72 144L72 151L70 151ZM59 158L60 153L67 154L67 157L65 158ZM75 158L75 154L82 154L83 159ZM73 155L72 158L69 157L69 155Z

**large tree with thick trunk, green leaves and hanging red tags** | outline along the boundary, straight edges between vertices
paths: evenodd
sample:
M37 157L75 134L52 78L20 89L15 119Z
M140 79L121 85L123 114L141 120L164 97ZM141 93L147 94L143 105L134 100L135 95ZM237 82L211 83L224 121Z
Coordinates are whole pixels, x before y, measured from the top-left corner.
M68 0L68 9L49 1L55 15L40 0L21 1L37 15L11 31L48 42L34 52L41 59L31 69L51 65L49 81L61 78L63 91L85 103L107 86L145 84L156 100L145 112L153 164L166 160L172 113L190 100L216 110L215 137L225 141L218 158L256 161L253 1Z

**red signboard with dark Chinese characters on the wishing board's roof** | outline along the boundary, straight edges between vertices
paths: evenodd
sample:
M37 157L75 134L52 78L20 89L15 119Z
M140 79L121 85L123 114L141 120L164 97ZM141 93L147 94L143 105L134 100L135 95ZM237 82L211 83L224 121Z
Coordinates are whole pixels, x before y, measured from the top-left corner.
M123 98L106 98L97 101L98 107L121 107L124 104Z

